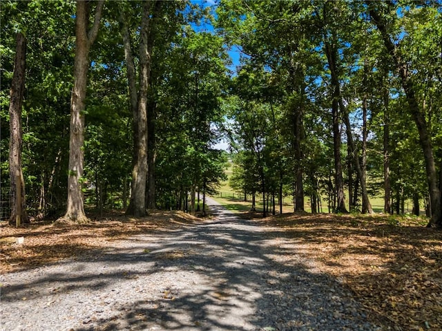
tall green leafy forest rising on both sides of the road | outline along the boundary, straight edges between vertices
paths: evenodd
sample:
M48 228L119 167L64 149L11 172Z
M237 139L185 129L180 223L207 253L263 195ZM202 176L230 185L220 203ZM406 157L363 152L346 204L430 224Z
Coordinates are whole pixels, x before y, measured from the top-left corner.
M0 54L10 224L195 214L230 160L273 214L442 227L440 1L5 0Z

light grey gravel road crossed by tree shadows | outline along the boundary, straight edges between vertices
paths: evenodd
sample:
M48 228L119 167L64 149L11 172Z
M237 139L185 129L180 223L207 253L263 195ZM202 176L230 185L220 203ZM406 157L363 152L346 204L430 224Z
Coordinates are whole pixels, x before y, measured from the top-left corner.
M0 329L381 330L293 239L208 205L198 226L1 275Z

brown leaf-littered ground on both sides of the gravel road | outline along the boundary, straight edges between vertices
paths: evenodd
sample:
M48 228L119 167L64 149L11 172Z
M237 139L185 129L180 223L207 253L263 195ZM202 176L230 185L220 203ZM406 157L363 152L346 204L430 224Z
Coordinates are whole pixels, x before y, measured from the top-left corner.
M423 227L425 220L328 214L253 220L300 243L302 250L294 254L314 259L324 273L338 278L375 323L391 330L442 330L442 231ZM16 229L3 224L0 270L29 269L88 254L112 240L201 222L182 212L156 212L137 219L113 213L81 226L38 222ZM10 237L23 237L24 243ZM285 256L287 262L294 254Z

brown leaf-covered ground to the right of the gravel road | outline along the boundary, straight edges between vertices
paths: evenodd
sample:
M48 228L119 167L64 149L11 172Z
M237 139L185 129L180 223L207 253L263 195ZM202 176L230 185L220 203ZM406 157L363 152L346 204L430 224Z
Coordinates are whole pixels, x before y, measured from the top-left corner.
M392 330L442 330L442 231L418 220L289 214L264 222L343 281L374 321Z

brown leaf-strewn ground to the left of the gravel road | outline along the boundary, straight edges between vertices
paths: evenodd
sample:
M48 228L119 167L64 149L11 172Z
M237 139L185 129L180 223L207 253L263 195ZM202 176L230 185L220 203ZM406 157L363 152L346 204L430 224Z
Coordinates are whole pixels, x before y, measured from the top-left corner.
M32 223L15 228L0 225L0 238L24 237L24 244L0 240L0 270L13 272L28 267L54 263L62 258L75 258L103 249L110 240L118 240L151 231L174 229L200 223L202 219L181 211L155 212L145 218L128 218L113 214L112 218L91 220L86 225ZM12 241L12 242L11 242Z

